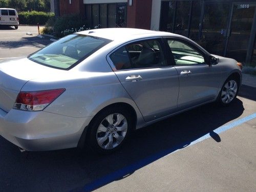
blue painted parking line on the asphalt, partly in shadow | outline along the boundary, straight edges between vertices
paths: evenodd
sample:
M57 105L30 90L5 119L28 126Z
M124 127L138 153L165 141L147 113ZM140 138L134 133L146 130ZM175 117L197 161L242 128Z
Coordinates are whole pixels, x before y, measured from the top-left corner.
M249 116L246 116L244 118L235 120L235 121L233 121L231 123L228 123L227 125L220 126L217 129L215 129L214 131L215 131L215 133L220 134L220 133L222 133L224 131L227 131L227 130L231 129L232 127L238 126L238 125L240 125L240 124L242 124L242 123L244 123L246 121L252 120L254 118L256 118L256 113L251 114ZM206 134L206 135L196 139L195 141L191 142L188 146L194 145L194 144L196 144L198 142L201 142L201 141L203 141L205 139L208 139L210 137L211 136L208 133L208 134ZM121 168L121 169L119 169L119 170L117 170L117 171L115 171L115 172L113 172L111 174L108 174L108 175L106 175L104 177L101 177L101 178L93 181L92 183L87 184L86 186L83 187L83 191L92 191L92 190L97 189L97 188L99 188L99 187L101 187L103 185L111 183L111 182L113 182L113 181L115 181L115 180L117 180L117 179L119 179L119 178L121 178L123 176L126 176L126 175L128 175L130 173L133 173L135 170L137 170L139 168L142 168L145 165L150 164L150 163L152 163L152 162L154 162L154 161L156 161L156 160L158 160L158 159L160 159L160 158L162 158L164 156L167 156L169 154L172 154L172 153L180 151L186 145L187 145L186 143L181 143L180 145L176 145L173 148L170 148L168 150L164 150L164 151L162 151L160 153L157 153L157 154L154 154L154 155L152 155L150 157L142 159L142 160L140 160L140 161L138 161L138 162L136 162L134 164L131 164L131 165L126 166L126 167L123 167L123 168ZM178 148L178 150L177 150L177 148Z

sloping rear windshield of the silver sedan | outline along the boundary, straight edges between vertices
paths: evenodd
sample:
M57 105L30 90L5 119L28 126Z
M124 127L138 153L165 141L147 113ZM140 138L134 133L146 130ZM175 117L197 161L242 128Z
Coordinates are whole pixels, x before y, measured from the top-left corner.
M57 69L71 69L111 40L88 35L72 34L30 55L41 65Z

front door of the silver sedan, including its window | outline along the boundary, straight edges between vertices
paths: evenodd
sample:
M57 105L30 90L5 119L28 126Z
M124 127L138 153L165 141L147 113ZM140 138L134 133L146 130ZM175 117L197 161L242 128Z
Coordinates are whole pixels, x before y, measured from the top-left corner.
M178 109L214 100L220 86L220 68L208 65L206 55L190 42L178 38L166 41L179 75Z

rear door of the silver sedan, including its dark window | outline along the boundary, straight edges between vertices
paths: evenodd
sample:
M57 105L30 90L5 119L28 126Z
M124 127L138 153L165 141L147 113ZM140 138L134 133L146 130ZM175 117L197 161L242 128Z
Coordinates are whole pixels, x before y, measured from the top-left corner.
M179 80L160 38L134 41L109 56L113 70L146 122L177 110Z

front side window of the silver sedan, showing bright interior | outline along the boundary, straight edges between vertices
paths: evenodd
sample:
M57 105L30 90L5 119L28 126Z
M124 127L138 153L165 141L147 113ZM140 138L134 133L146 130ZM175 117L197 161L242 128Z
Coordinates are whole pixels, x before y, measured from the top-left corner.
M204 63L203 55L185 42L173 39L167 41L176 65L199 65Z

